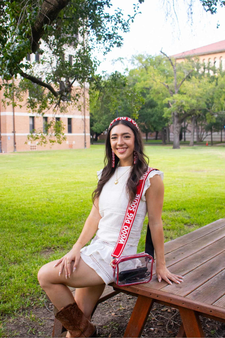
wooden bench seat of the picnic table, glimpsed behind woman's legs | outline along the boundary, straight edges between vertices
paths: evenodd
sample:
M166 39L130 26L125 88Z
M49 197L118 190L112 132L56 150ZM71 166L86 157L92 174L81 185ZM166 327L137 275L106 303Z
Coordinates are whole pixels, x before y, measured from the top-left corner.
M70 288L73 295L75 294L75 288ZM97 301L91 316L93 315L94 311L96 310L97 306L100 303L103 303L105 300L117 295L118 293L120 293L119 290L113 290L113 287L110 285L107 285L105 287L105 290L103 291L103 294L101 295L101 297L99 298L99 300ZM54 319L54 326L53 326L53 331L52 331L52 337L60 337L64 332L67 332L67 330L62 326L61 322L58 319Z

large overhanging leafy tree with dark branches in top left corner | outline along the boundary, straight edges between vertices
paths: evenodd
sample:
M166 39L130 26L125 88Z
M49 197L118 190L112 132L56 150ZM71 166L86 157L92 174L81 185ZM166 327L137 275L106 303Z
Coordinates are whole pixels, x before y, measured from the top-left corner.
M101 83L95 75L98 61L92 57L93 49L107 53L120 47L122 32L129 31L142 2L125 19L119 8L107 11L110 0L3 0L0 74L6 98L13 92L20 101L29 90L28 108L37 114L50 106L61 112L68 105L79 107L83 83ZM18 90L10 82L13 76L22 77Z

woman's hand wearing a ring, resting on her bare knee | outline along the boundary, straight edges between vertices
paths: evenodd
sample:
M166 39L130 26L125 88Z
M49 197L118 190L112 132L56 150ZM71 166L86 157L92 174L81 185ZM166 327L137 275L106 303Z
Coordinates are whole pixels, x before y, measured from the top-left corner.
M78 262L80 260L80 249L81 248L82 248L82 244L80 242L75 243L73 248L66 255L60 258L58 262L54 265L55 267L61 263L60 269L59 269L59 276L62 273L62 270L64 267L66 279L67 277L70 277L72 261L74 261L73 272L76 270Z

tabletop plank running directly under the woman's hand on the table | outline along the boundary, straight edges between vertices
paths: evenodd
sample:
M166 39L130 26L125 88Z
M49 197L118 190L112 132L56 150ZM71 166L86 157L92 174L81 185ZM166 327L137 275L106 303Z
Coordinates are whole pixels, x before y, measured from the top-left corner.
M166 260L166 266L169 267L170 272L179 274L181 276L185 276L187 273L191 272L192 270L196 269L200 265L204 264L208 260L214 258L218 254L224 251L225 247L225 237L221 240L209 245L208 247L196 252L194 255L187 257L185 260L179 261L176 264L170 266L168 261ZM157 278L155 277L155 269L156 264L153 265L153 276L152 280L149 283L146 283L146 287L155 288L156 290L160 290L167 285L166 282L162 281L161 283L158 282Z

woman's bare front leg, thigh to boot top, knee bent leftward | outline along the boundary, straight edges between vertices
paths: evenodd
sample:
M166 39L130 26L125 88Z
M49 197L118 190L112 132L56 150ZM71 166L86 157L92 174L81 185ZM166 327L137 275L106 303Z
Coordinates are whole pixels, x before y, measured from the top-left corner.
M61 309L68 304L74 303L73 294L67 286L86 288L89 286L92 287L104 284L102 278L92 268L84 263L81 258L79 260L77 269L75 272L71 273L70 278L67 277L67 279L65 278L64 269L59 276L60 266L53 267L56 262L57 260L47 263L41 267L37 277L40 286L43 288L43 290L45 290L48 297L51 299L52 303L57 309ZM73 264L74 262L71 263L71 271L73 271ZM90 309L88 310L86 308L85 311L89 313Z

